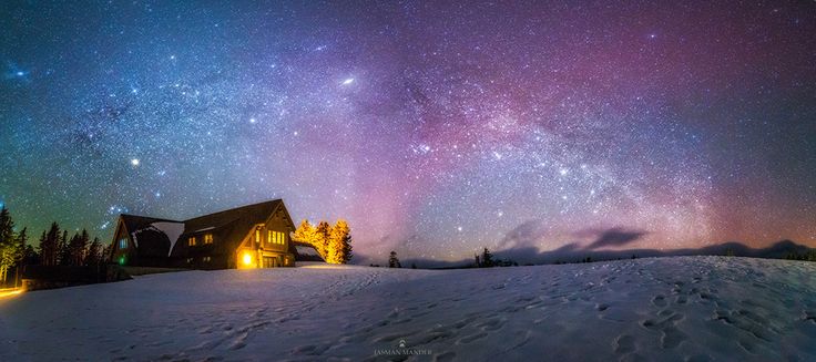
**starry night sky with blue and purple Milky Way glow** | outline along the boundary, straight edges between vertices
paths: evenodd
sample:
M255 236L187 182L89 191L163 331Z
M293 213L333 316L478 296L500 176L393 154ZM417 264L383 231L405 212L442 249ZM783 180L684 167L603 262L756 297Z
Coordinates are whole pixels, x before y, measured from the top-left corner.
M34 235L283 198L358 260L816 246L813 1L4 1L0 28L0 203Z

